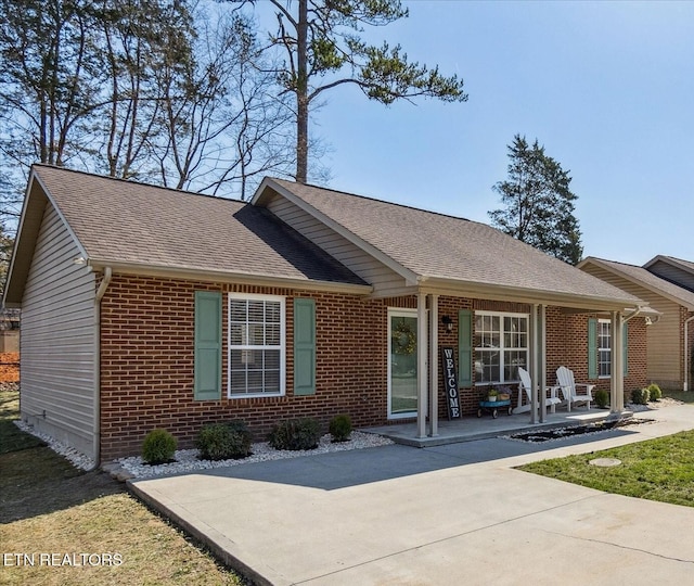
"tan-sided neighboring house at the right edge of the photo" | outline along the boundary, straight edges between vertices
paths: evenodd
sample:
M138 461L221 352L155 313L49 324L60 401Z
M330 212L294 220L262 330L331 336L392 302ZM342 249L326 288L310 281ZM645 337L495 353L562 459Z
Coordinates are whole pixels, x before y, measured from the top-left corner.
M579 268L650 303L660 315L646 329L647 379L664 388L691 385L694 264L656 256L643 267L588 257Z

